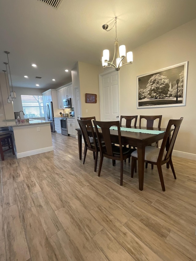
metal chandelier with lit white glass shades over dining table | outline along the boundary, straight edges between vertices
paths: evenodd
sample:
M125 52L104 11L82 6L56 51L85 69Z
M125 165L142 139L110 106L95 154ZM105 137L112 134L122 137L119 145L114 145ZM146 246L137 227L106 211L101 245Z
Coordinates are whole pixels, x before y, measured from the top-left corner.
M120 67L127 65L127 64L131 64L133 62L133 53L132 52L128 52L126 54L126 47L125 45L121 45L119 46L119 42L117 39L117 17L115 17L115 22L112 26L112 28L115 26L116 29L116 38L115 38L115 42L114 42L114 57L112 59L111 62L109 62L109 50L104 50L103 51L103 57L102 57L102 65L103 67L111 67L114 68L116 71L120 70ZM111 29L107 30L108 28L108 24L104 24L102 25L102 28L109 32ZM123 59L125 58L127 59L127 63L123 62ZM114 64L114 62L116 62L116 65ZM109 64L109 65L108 65Z

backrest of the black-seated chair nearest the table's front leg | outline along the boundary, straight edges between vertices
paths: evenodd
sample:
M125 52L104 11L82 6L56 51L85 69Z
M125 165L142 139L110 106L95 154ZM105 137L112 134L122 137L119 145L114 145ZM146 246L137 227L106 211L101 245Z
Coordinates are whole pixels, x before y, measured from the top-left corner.
M94 121L96 136L98 138L100 153L107 154L109 156L113 156L112 151L112 142L111 142L111 126L116 126L118 128L118 140L116 140L116 144L119 144L120 147L120 155L123 155L122 152L122 142L121 142L121 133L120 133L120 122L119 121ZM99 126L100 128L98 128ZM114 130L113 130L114 131ZM101 142L104 141L104 144Z

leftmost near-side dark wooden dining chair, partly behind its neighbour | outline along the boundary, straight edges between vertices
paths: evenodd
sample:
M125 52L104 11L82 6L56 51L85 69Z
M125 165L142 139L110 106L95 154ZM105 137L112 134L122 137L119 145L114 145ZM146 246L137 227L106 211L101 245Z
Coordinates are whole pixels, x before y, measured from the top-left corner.
M99 146L98 146L98 142L95 137L95 132L94 132L94 129L92 126L92 121L91 120L79 120L79 119L77 121L80 126L82 136L84 139L84 143L85 143L83 164L85 164L87 150L93 151L93 158L95 159L94 171L96 172Z

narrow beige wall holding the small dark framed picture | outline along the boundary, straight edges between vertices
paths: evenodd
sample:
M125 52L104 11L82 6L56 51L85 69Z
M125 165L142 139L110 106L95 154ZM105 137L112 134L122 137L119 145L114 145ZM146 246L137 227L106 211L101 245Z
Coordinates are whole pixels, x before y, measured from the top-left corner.
M78 62L80 95L81 95L81 117L95 116L100 120L100 97L99 97L99 73L100 66ZM85 103L85 93L97 95L97 103ZM86 113L88 110L88 113Z

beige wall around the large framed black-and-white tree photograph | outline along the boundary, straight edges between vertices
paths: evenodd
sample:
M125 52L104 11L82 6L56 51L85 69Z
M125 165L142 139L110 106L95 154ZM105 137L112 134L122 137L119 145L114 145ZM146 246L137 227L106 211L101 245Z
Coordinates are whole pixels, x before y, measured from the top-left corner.
M134 62L119 71L120 115L184 117L174 149L196 154L196 19L133 50ZM186 106L137 109L137 76L188 61Z

